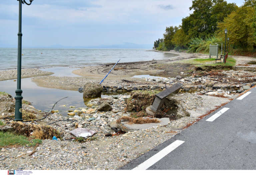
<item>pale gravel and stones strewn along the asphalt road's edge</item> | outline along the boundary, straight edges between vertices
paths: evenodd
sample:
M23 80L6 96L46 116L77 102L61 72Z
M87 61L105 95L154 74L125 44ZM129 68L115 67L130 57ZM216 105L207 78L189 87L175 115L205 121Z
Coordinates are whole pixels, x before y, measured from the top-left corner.
M115 97L116 98L116 97ZM83 113L81 116L62 116L61 114L51 114L45 123L51 123L57 120L70 119L74 122L57 122L50 126L64 132L65 141L56 141L51 139L43 140L36 148L36 152L29 156L28 154L34 150L34 147L5 147L0 151L1 165L0 169L118 169L126 163L132 161L136 157L144 154L158 144L173 137L181 132L183 127L189 122L193 122L201 114L205 114L207 110L214 109L220 103L229 100L225 98L212 97L206 95L198 95L197 93L176 94L173 98L179 101L179 110L186 109L191 113L190 117L183 117L176 121L170 121L165 126L155 126L145 130L128 132L120 135L106 137L106 133L114 134L108 122L114 121L121 116L128 116L130 113L124 113L125 98L129 95L119 95L117 99L113 97L103 99L93 99L88 104L93 105L96 109L102 101L108 101L113 111L117 113L91 111L91 114ZM208 103L206 103L208 102ZM211 105L209 105L209 103ZM79 109L79 108L76 108ZM79 109L81 110L81 109ZM85 110L83 110L85 111ZM195 111L195 112L193 112ZM199 113L196 113L200 111ZM100 120L88 122L89 117ZM87 138L84 143L79 143L72 139L74 137L69 132L74 129L75 123L82 125L84 128L97 131L96 134ZM71 139L70 139L71 138ZM43 163L42 163L43 162Z

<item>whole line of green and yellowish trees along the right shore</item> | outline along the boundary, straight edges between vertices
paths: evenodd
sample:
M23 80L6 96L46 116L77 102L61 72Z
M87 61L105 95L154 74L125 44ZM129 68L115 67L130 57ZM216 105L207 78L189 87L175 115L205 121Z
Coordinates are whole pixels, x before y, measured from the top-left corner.
M227 29L231 51L256 51L256 0L244 0L240 7L225 0L193 0L189 10L193 13L180 26L166 27L153 48L208 52L209 44L225 42Z

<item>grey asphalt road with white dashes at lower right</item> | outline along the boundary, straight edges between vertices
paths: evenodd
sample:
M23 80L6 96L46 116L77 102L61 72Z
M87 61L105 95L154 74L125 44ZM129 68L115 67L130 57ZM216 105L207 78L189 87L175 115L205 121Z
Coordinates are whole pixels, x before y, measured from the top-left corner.
M256 88L250 92L120 169L256 169ZM207 121L218 112L223 114ZM175 149L167 147L176 140L184 142Z

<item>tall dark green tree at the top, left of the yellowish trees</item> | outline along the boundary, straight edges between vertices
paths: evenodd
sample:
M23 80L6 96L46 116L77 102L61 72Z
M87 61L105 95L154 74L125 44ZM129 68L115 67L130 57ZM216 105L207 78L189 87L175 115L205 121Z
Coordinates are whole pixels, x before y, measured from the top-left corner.
M182 19L182 29L191 38L208 38L217 30L218 22L238 7L224 0L194 0L189 10L193 13Z

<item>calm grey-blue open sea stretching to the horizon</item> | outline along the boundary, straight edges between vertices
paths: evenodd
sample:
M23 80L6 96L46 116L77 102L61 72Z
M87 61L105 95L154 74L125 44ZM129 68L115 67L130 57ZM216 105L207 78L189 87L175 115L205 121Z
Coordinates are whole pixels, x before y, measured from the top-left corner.
M23 48L22 68L85 66L102 63L168 59L170 53L150 49ZM0 70L17 68L17 48L0 48Z

